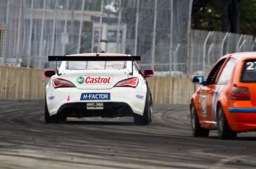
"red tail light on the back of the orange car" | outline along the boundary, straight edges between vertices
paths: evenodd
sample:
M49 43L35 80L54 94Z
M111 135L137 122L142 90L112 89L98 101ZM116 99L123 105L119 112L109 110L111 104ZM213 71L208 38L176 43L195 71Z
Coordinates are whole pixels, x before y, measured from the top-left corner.
M234 90L229 97L229 100L250 100L248 87L234 87Z

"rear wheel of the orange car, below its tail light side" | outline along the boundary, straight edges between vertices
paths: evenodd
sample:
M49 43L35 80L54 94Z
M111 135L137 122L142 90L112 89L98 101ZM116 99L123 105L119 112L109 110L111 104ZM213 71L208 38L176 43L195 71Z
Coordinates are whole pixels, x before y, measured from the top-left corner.
M217 107L217 134L220 139L233 139L237 137L237 132L229 128L222 106Z

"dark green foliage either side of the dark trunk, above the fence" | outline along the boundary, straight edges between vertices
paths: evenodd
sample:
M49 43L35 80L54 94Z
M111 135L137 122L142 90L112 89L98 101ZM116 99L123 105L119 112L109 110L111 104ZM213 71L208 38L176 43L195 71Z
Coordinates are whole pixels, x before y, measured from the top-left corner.
M239 33L256 35L256 0L239 2ZM191 27L197 30L221 31L223 0L211 0L191 17Z

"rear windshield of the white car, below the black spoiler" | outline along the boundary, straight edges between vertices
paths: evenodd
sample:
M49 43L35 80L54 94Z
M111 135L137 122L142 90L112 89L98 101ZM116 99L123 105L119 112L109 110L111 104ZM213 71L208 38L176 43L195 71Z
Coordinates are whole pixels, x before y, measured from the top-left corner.
M126 61L67 61L66 69L125 69Z

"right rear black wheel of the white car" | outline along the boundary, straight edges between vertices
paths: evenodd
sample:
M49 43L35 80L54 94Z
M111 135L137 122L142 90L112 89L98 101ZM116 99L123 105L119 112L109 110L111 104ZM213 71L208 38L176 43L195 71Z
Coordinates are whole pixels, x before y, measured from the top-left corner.
M148 97L146 97L143 116L141 116L140 114L134 114L134 124L148 125L150 123L150 120L152 120L151 119L152 110L153 110L153 104L148 100Z

